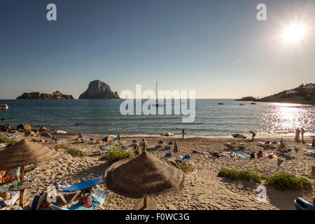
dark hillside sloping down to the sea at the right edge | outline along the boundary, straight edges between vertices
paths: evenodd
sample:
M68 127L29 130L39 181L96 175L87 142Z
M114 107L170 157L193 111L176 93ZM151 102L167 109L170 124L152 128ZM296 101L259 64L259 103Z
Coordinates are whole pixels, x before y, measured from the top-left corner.
M269 97L256 99L257 102L289 104L315 104L315 83L302 84L292 90L284 90Z

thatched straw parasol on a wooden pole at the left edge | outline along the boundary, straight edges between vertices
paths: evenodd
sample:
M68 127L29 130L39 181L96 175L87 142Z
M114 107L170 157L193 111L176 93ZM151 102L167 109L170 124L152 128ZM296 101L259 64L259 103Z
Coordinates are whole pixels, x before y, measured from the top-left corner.
M0 169L9 170L21 167L20 186L24 182L25 165L36 164L55 158L59 153L54 149L22 139L17 144L0 151ZM20 193L20 207L23 207L24 190Z

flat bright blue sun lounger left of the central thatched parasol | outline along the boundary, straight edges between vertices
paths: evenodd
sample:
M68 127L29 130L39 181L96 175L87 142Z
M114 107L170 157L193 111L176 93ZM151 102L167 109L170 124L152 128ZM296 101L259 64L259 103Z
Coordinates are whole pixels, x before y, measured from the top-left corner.
M94 186L97 186L99 184L104 183L103 176L97 176L94 179L90 179L87 181L82 181L80 183L74 183L73 185L69 186L68 188L59 188L57 189L57 195L61 197L62 201L67 204L66 200L64 199L63 195L69 195L76 193L76 195L73 196L70 203L73 202L73 200L76 199L76 197L80 194L82 190L86 190L89 188L92 188Z

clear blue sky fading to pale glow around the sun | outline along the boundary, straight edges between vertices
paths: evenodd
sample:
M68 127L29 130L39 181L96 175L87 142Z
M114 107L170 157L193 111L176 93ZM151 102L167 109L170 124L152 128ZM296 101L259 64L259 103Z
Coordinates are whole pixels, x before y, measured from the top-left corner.
M57 21L46 19L48 3ZM292 24L304 36L288 43ZM78 98L96 79L118 94L158 81L200 99L265 97L314 83L314 62L314 0L0 1L0 99Z

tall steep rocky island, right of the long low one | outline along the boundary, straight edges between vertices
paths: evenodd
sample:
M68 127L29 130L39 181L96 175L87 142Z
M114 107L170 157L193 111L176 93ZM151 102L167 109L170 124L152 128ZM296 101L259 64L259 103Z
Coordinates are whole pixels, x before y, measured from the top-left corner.
M106 83L94 80L78 99L120 99L120 97L118 92L111 91L111 87Z

